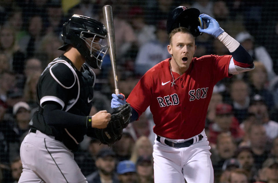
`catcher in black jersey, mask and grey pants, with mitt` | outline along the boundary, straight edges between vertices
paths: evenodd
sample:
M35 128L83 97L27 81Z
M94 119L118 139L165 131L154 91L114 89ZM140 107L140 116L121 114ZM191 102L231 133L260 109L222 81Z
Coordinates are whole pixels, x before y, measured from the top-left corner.
M103 110L88 116L95 82L89 66L101 67L109 48L101 44L106 37L106 27L89 17L73 15L63 25L64 45L59 49L65 53L50 62L39 78L39 109L20 147L19 183L86 183L72 153L83 136L105 144L120 139L131 115L129 104L111 114Z

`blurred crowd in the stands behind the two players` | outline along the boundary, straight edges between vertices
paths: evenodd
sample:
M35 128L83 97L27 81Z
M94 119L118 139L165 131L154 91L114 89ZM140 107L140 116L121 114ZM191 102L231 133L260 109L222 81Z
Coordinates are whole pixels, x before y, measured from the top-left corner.
M131 3L131 1L133 3ZM75 3L74 3L75 2ZM206 118L215 183L278 183L277 1L258 0L5 0L0 2L0 183L22 171L21 141L37 109L36 84L59 51L62 25L72 14L103 21L114 16L118 80L127 98L140 77L167 52L166 20L173 8L198 8L215 18L254 58L255 69L225 78L213 90ZM196 38L196 57L229 54L212 36ZM111 112L109 55L94 69L93 108ZM75 160L89 183L153 182L154 123L149 109L111 147L85 137Z

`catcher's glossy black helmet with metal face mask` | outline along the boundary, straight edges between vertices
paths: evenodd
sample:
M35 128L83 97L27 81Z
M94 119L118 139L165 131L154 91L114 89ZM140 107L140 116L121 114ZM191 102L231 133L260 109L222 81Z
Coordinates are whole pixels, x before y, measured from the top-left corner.
M101 67L102 58L109 48L109 46L101 45L101 41L106 38L107 30L102 23L87 16L74 14L63 25L64 45L58 49L65 51L69 45L73 46L91 67L97 69ZM93 44L98 44L100 49L94 48Z

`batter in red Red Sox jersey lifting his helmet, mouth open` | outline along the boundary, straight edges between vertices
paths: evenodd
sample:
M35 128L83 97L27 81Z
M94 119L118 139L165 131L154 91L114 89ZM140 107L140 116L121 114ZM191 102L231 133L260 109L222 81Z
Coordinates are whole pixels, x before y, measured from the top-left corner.
M202 21L206 23L203 29ZM173 10L167 21L171 58L153 66L143 75L127 100L112 94L111 107L130 103L131 121L148 106L156 134L153 146L154 182L213 183L210 147L204 127L213 86L254 68L252 57L219 26L195 8ZM201 33L219 39L231 55L193 58L195 37Z

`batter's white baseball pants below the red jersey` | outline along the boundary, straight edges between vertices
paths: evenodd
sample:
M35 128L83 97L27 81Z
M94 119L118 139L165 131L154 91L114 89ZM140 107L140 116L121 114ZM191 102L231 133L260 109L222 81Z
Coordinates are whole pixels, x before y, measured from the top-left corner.
M211 163L211 147L203 130L204 138L201 141L194 140L189 147L175 148L164 143L164 137L160 142L155 140L153 145L154 158L154 182L155 183L213 183L213 167ZM198 136L196 136L198 137ZM183 142L190 140L171 140ZM194 139L198 139L195 138Z

